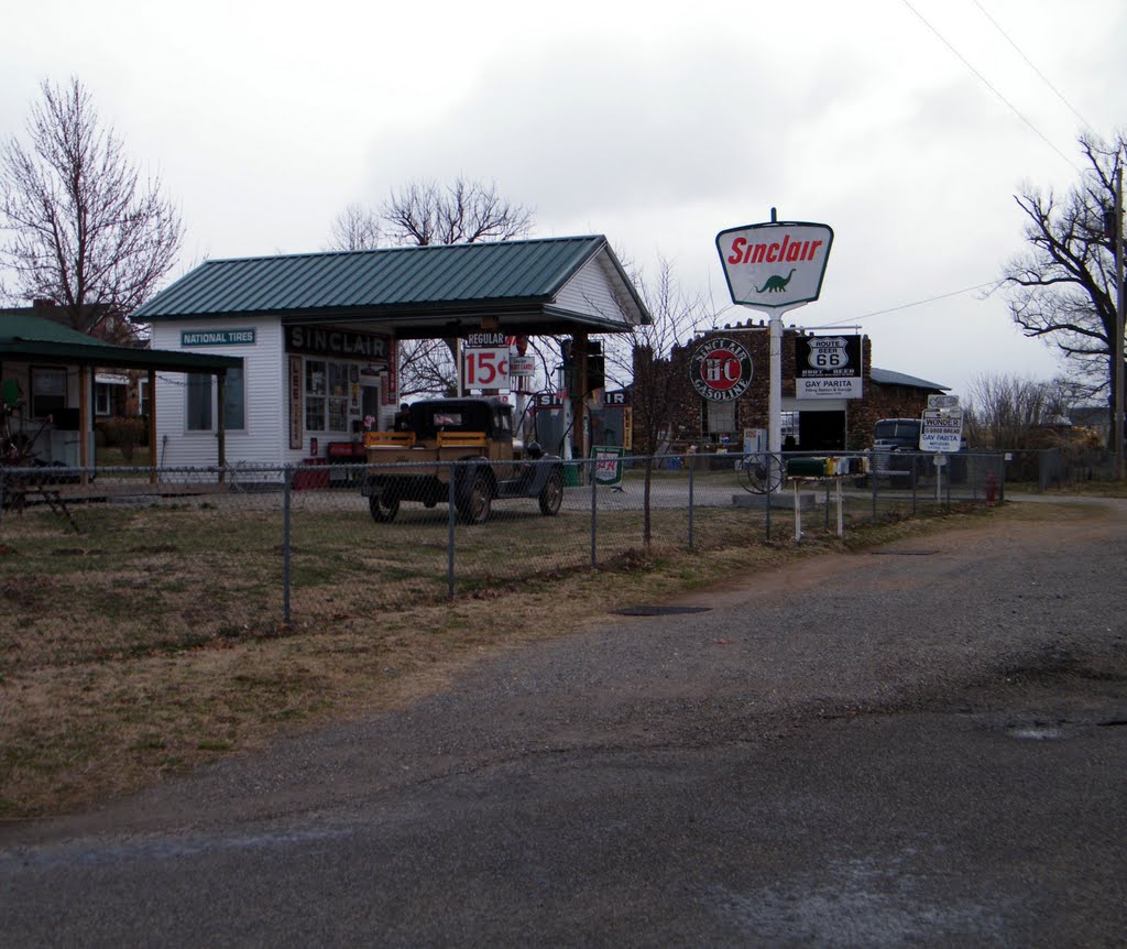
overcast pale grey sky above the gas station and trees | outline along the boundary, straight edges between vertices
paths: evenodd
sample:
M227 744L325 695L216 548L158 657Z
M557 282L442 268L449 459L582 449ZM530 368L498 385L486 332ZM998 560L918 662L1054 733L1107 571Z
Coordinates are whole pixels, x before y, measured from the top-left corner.
M873 365L968 393L1061 365L985 296L1022 250L1013 195L1079 178L1125 124L1121 0L37 0L10 5L0 135L77 76L207 258L329 246L349 203L495 181L533 237L606 234L671 261L718 326L716 234L834 230L788 325L853 327ZM61 28L63 26L64 28Z

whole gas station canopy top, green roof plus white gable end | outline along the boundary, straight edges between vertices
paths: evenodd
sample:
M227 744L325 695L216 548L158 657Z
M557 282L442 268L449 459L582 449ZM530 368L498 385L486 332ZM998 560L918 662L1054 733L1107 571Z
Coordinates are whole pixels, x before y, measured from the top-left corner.
M131 317L360 323L397 339L623 332L650 316L602 234L208 260ZM360 327L357 327L360 328Z

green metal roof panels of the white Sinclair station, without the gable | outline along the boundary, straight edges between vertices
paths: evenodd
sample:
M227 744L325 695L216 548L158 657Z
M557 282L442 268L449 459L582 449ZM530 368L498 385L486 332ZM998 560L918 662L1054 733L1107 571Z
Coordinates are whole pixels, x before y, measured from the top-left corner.
M131 319L545 313L567 282L600 252L607 255L624 295L638 308L639 321L648 319L601 234L208 260Z

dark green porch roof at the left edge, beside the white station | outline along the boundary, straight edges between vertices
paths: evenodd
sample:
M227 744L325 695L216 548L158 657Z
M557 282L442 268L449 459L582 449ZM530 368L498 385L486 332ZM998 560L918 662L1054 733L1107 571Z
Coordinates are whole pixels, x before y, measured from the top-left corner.
M36 360L165 372L216 372L242 365L242 360L234 356L114 346L27 310L0 310L0 362Z

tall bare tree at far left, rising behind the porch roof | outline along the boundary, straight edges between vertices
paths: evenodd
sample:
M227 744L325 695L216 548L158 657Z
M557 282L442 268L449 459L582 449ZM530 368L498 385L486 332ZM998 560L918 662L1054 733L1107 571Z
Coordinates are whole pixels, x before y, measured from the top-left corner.
M0 145L0 266L6 295L51 299L82 332L121 336L171 269L183 225L159 178L141 181L86 87L44 80L25 145Z

